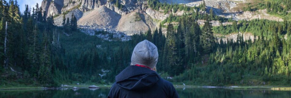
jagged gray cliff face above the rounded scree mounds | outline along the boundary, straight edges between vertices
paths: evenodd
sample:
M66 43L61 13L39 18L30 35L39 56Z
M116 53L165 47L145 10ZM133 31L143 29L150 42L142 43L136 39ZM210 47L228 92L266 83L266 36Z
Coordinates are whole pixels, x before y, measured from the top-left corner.
M142 4L145 1L142 0L119 0L119 3L124 7L122 10L115 7L115 2L112 0L43 0L41 7L44 8L44 11L55 16L61 13L70 12L73 9L79 9L82 12L90 11L97 9L102 5L105 5L107 8L125 15L136 9L142 10Z

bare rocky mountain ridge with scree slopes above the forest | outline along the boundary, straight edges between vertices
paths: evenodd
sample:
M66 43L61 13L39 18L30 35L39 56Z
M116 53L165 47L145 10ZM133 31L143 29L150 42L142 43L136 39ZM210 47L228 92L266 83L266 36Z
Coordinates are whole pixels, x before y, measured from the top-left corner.
M95 34L95 31L108 31L133 35L140 31L146 32L158 28L159 23L169 17L162 10L154 10L146 6L146 0L119 0L123 5L122 10L115 6L112 0L43 0L41 7L55 17L55 24L62 26L62 14L71 17L74 13L78 20L78 27L88 34ZM201 0L160 0L160 2L171 4L185 4L186 6L199 6ZM206 6L213 9L214 13L222 17L233 19L268 19L270 16L259 12L242 12L234 10L239 3L246 0L205 0ZM173 11L172 11L173 12ZM135 14L140 15L141 20L136 21ZM174 15L183 15L185 12L177 11ZM271 17L271 20L281 21L278 17ZM198 20L203 25L204 20ZM219 26L219 21L211 21L213 26ZM230 25L232 23L222 23ZM165 29L165 28L163 28ZM165 30L163 30L165 31Z

